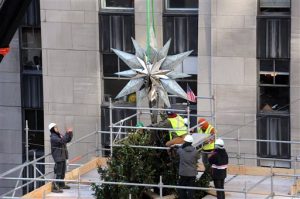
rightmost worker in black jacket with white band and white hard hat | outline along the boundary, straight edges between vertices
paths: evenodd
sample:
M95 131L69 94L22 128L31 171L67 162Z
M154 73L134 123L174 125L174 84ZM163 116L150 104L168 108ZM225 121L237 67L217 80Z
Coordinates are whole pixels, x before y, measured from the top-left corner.
M224 189L224 180L227 175L228 154L224 147L224 141L218 138L215 142L215 149L208 158L211 164L211 176L214 181L215 188ZM218 199L225 199L224 191L217 191Z

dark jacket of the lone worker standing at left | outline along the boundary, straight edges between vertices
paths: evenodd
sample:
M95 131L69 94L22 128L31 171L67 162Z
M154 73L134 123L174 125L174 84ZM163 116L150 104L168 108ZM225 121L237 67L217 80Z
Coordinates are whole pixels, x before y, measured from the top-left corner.
M61 162L68 159L67 143L72 140L73 133L67 132L61 136L59 133L51 132L51 154L54 162Z

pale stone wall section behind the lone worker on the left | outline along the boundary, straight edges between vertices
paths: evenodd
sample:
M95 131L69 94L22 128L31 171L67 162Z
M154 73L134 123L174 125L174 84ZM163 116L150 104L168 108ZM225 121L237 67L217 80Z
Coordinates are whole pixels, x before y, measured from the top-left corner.
M98 0L41 0L46 154L50 122L60 131L73 127L73 141L100 126L98 11ZM94 147L87 143L70 147L69 159Z

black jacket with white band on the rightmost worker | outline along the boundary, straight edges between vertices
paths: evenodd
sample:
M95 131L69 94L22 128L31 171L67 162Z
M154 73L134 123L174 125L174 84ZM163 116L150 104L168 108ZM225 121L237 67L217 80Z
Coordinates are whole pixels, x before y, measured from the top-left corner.
M208 158L211 164L212 178L216 180L223 180L227 176L228 154L225 149L216 148Z

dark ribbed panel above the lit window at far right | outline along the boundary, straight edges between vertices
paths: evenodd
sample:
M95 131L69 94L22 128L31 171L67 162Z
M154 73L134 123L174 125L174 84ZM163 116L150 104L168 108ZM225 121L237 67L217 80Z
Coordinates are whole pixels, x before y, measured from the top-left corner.
M290 23L287 18L258 18L258 58L290 58Z

